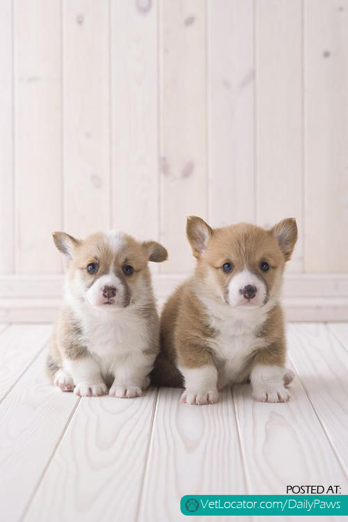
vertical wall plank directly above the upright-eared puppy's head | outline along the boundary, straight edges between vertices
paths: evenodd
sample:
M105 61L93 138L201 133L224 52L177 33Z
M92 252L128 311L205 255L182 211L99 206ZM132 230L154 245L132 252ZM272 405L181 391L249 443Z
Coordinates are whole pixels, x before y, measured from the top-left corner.
M209 0L209 219L255 221L253 0Z

